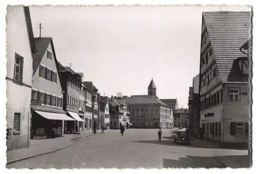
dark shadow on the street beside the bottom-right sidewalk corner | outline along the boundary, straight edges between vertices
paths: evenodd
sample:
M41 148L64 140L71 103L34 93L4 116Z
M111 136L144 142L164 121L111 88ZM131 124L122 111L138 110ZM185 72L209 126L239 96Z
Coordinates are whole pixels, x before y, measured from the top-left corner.
M163 168L226 168L212 157L194 157L179 158L179 160L163 159Z

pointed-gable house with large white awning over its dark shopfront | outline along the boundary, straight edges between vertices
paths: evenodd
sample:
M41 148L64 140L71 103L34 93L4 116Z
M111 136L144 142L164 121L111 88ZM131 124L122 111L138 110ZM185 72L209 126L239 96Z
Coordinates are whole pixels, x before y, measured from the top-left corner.
M35 38L33 54L31 138L63 135L64 120L74 120L63 111L63 91L51 37ZM52 133L54 131L54 134Z

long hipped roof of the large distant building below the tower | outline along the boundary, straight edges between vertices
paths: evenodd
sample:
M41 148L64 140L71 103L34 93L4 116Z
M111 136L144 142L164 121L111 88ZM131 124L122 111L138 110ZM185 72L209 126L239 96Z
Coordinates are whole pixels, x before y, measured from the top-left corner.
M162 102L157 98L150 98L150 97L126 97L126 102L129 104L161 104L166 107L169 107L167 104Z

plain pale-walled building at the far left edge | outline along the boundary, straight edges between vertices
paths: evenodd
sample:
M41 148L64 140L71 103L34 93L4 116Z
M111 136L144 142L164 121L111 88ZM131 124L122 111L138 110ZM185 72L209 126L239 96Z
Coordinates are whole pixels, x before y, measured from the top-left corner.
M28 147L30 142L32 55L36 49L29 8L8 6L7 11L7 150L13 150Z

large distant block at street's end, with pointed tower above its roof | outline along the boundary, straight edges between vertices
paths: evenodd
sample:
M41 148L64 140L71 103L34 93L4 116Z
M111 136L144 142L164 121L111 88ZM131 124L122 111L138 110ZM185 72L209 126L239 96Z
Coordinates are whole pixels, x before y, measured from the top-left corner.
M152 79L148 85L149 95L123 97L131 112L130 121L136 128L169 128L171 107L156 96L156 85ZM169 121L169 122L168 122Z

